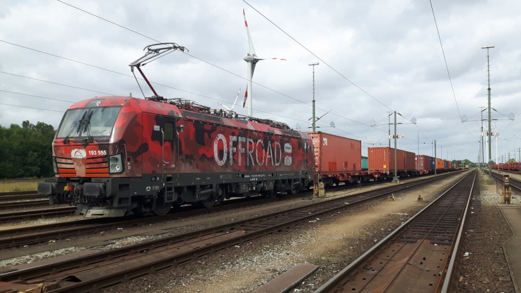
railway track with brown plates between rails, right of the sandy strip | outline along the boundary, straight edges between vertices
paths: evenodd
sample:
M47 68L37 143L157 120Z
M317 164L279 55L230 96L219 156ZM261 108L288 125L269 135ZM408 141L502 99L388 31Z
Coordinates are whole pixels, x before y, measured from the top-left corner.
M448 292L476 171L322 285L322 292Z

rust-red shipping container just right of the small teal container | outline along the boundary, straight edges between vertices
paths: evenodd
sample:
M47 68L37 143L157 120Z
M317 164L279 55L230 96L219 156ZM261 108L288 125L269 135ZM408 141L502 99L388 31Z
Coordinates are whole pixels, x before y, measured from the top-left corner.
M396 169L414 170L416 165L415 153L396 150ZM395 169L395 149L390 147L370 147L367 148L369 157L370 171L394 171Z

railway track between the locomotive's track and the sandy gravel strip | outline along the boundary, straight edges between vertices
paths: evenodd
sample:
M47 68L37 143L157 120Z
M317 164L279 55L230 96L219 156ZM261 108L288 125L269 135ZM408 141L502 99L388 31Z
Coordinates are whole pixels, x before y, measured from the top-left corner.
M48 286L47 292L99 290L151 271L195 260L229 246L250 242L264 235L288 231L295 226L308 224L309 219L341 213L358 203L420 187L439 178L427 178L407 185L392 185L352 195L349 196L349 203L340 197L183 235L165 235L158 240L111 251L40 263L35 267L8 267L0 271L0 281L25 283L28 286L45 283Z

